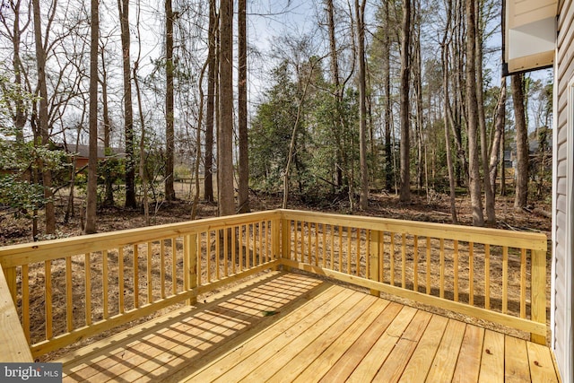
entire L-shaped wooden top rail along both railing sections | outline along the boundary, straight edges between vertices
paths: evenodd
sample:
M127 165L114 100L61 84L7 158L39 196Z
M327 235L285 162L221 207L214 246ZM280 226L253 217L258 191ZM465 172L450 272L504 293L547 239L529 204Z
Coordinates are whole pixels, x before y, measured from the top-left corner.
M178 237L192 232L212 231L237 224L277 218L333 225L352 225L361 229L404 232L423 237L457 239L467 242L508 246L511 248L547 250L547 237L543 233L504 231L500 229L457 226L447 223L412 222L391 218L277 209L6 246L0 248L0 265L11 267L31 262L41 262L69 255L99 251L102 248L126 246L138 242Z

